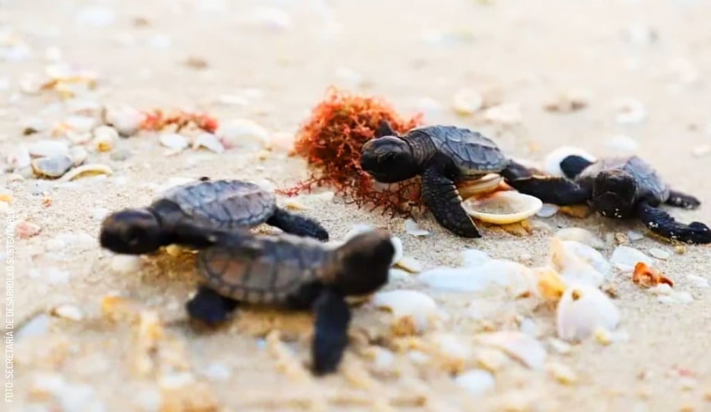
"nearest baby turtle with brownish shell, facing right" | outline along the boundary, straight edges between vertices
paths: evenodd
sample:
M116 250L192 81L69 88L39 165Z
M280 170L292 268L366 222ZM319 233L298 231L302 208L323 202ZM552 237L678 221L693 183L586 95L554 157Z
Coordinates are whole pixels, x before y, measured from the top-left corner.
M223 322L238 303L313 310L311 344L316 374L334 372L348 344L351 310L346 296L367 295L387 283L395 247L384 230L364 232L333 247L290 234L217 234L198 252L205 283L186 303L188 315L208 325Z

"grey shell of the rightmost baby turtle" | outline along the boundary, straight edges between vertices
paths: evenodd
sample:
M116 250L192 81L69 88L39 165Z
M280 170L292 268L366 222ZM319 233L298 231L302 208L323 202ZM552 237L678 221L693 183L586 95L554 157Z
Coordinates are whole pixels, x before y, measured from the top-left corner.
M579 178L595 178L599 173L608 170L623 170L631 175L641 195L652 195L660 202L669 197L669 187L659 173L638 156L602 159L585 168Z

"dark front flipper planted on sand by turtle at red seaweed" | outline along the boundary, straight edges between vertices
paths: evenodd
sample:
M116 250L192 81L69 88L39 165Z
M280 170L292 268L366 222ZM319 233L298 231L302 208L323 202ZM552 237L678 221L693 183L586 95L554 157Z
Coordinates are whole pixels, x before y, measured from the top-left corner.
M454 181L436 168L422 173L422 202L444 229L461 237L481 237L474 221L461 206L461 195Z

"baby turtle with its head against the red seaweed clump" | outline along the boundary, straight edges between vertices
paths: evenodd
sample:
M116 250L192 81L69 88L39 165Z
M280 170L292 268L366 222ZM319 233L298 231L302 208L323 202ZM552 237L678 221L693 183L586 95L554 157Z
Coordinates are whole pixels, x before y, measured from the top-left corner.
M363 144L360 167L381 183L420 175L422 202L437 222L462 237L481 237L461 206L456 183L498 173L508 159L496 143L456 126L424 126L397 136L387 122Z

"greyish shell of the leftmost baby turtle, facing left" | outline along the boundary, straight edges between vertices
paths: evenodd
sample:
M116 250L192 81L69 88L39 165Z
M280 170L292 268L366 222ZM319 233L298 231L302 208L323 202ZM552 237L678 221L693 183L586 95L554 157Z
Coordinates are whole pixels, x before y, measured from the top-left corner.
M200 180L171 188L157 202L173 202L196 224L215 229L255 227L274 214L277 200L260 185L243 180Z

